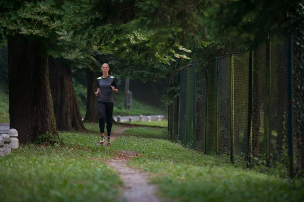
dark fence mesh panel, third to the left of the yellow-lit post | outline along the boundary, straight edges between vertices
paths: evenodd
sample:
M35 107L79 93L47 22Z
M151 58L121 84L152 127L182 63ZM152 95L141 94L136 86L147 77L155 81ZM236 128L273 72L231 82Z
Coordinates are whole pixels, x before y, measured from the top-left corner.
M205 151L207 71L202 71L203 62L194 61L195 68L195 143L194 148Z

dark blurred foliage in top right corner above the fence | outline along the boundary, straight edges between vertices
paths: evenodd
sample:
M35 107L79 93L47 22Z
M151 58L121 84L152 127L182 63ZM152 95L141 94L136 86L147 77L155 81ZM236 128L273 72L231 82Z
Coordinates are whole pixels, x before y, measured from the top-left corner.
M271 35L294 32L303 23L303 1L215 1L208 12L208 25L213 38L222 31L230 36L247 38L256 45Z

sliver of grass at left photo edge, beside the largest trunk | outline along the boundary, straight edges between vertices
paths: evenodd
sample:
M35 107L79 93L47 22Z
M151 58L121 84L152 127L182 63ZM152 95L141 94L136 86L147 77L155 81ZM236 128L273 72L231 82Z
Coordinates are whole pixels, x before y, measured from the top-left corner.
M9 121L10 114L8 86L0 84L0 123Z

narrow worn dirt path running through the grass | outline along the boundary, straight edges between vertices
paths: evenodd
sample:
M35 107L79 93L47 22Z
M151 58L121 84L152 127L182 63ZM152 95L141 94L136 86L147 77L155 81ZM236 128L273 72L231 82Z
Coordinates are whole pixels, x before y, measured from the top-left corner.
M128 128L123 128L115 131L112 139L123 134L123 131ZM113 142L115 144L115 142ZM161 201L157 196L157 186L148 184L148 177L146 173L127 166L127 161L130 158L140 156L135 151L122 151L115 158L108 160L106 163L111 166L124 181L123 199L128 202L158 202Z

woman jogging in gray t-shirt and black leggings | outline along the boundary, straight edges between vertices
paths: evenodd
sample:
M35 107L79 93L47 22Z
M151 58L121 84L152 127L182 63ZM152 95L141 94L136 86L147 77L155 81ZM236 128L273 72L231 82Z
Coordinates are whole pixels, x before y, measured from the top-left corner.
M109 75L109 70L110 67L108 64L102 64L102 76L97 78L97 91L95 92L95 95L98 96L97 108L99 114L99 129L101 134L100 144L104 143L104 118L106 118L106 145L111 143L110 135L114 107L112 91L118 92L117 80L115 77Z

